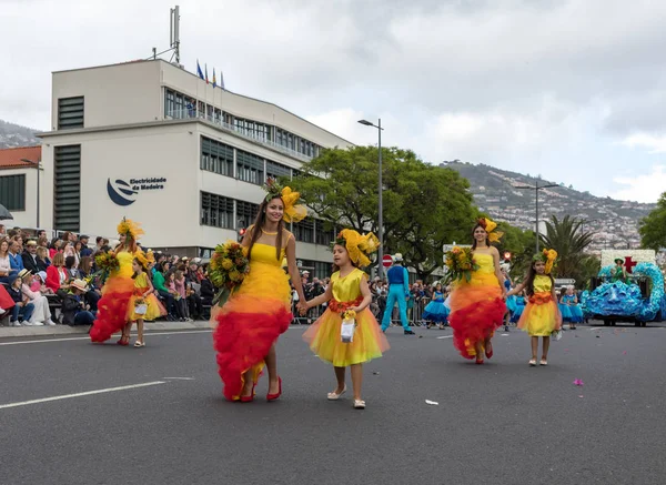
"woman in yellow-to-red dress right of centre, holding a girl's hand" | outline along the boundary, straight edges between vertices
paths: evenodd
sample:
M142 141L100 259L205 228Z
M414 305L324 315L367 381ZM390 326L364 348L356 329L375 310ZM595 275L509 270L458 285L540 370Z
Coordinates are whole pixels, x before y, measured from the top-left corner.
M484 353L487 358L493 356L491 339L506 313L500 253L491 245L502 236L496 228L490 219L478 220L472 231L472 252L478 269L472 272L470 281L457 281L451 294L448 323L453 329L453 344L463 357L476 357L477 364L483 364Z

